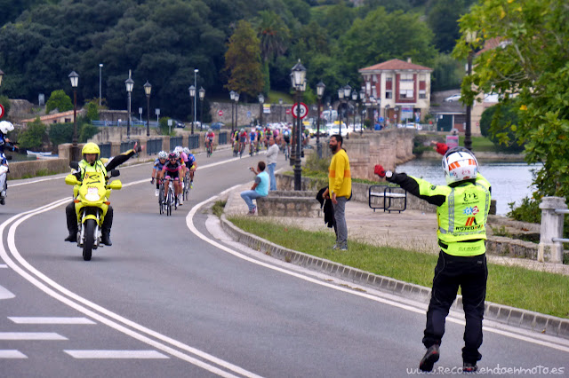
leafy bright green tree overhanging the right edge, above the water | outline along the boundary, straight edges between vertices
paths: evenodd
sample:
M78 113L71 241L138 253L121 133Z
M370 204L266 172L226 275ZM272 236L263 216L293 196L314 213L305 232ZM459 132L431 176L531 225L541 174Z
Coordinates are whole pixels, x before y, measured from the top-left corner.
M462 82L462 101L471 104L480 92L497 93L504 104L517 98L517 141L525 143L525 161L543 164L534 178L534 197L569 197L566 2L485 0L465 14L460 25L461 39L454 48L455 57L466 59L472 49L486 47L474 59L473 75ZM468 31L478 32L472 43L466 42ZM505 141L508 136L501 138Z

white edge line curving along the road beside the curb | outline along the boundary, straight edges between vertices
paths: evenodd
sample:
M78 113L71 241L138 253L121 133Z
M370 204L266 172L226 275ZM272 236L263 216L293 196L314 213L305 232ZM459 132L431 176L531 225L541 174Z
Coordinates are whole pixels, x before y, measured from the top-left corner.
M249 263L258 264L258 265L260 265L260 266L263 266L263 267L265 267L265 268L271 269L271 270L273 270L273 271L282 272L282 273L284 273L284 274L288 274L288 275L293 276L293 277L296 277L296 278L298 278L298 279L306 280L306 281L308 281L308 282L311 282L311 283L314 283L314 284L317 284L317 285L320 285L320 286L323 286L323 287L329 287L329 288L332 288L333 290L338 290L338 291L341 291L341 292L344 292L344 293L348 293L348 294L351 294L351 295L361 296L361 297L364 297L364 298L366 298L366 299L370 299L370 300L372 300L372 301L379 302L379 303L388 304L388 305L390 305L390 306L397 307L397 308L400 308L400 309L403 309L403 310L406 310L406 311L411 311L411 312L421 313L421 314L424 314L424 313L425 313L425 310L424 310L424 309L420 309L420 308L417 308L417 307L413 307L413 306L408 305L408 304L405 304L405 303L398 303L398 302L396 302L396 301L389 300L389 299L386 299L386 298L382 298L382 297L377 296L377 295L370 295L370 294L367 294L367 293L362 293L362 292L355 291L355 290L353 290L353 289L351 289L351 288L336 286L336 285L333 285L333 284L331 284L331 283L324 282L324 281L322 281L322 280L317 280L317 279L314 279L314 278L312 278L312 277L309 277L309 276L307 276L307 275L304 275L304 274L301 274L301 273L298 273L298 272L293 272L293 271L290 271L290 270L287 270L287 269L284 269L284 268L280 268L280 267L278 267L278 266L276 266L276 265L264 263L264 262L262 262L262 261L259 261L259 260L254 259L254 258L252 258L252 257L250 257L250 256L245 256L244 254L242 254L242 253L236 251L235 249L228 248L228 247L224 246L223 244L220 244L219 242L217 242L217 241L215 241L215 240L211 240L211 239L207 238L202 232L199 232L199 231L197 230L196 226L194 225L194 215L196 214L196 212L197 212L198 209L200 209L202 206L204 206L204 204L206 204L206 203L208 203L208 202L211 202L211 201L215 201L217 198L220 198L221 196L223 196L224 193L228 193L229 191L234 190L237 186L239 186L239 185L235 185L235 186L233 186L233 187L231 187L231 188L229 188L229 189L227 189L227 190L221 192L221 193L218 194L218 195L212 196L212 197L209 198L208 200L205 200L205 201L202 201L202 202L200 202L200 203L197 203L196 206L194 206L194 207L188 212L188 216L186 217L186 225L188 226L189 231L192 232L192 233L194 233L194 234L195 234L198 238L200 238L201 240L204 240L205 242L211 244L213 247L219 248L219 249L221 249L221 250L227 252L228 254L233 255L233 256L236 256L236 257L238 257L238 258L241 258L241 259L243 259L243 260L245 260L245 261L247 261L247 262L249 262ZM453 322L453 323L455 323L455 324L459 324L459 325L464 325L464 324L465 324L465 321L464 321L463 318L462 318L462 319L459 319L459 318L448 317L448 318L447 318L447 321L451 321L451 322ZM560 338L559 338L559 339L556 339L555 342L552 343L552 342L549 342L549 341L546 341L546 340L540 340L540 339L539 339L539 338L540 338L540 335L537 335L537 334L536 334L536 335L532 335L531 338L530 338L529 336L527 336L527 333L530 332L530 331L527 331L527 330L520 330L519 332L524 332L525 335L519 335L519 334L517 334L516 332L509 332L509 331L504 330L504 329L502 329L502 328L503 328L503 327L500 327L500 326L499 326L499 327L488 327L488 326L485 326L485 327L484 327L485 331L492 332L492 333L494 333L494 334L507 336L507 337L510 337L510 338L513 338L513 339L517 339L517 340L521 340L521 341L524 341L524 342L527 342L527 343L534 343L534 344L538 344L538 345L541 345L541 346L546 346L546 347L549 347L549 348L552 348L552 349L556 349L556 350L562 350L562 351L565 351L565 352L569 353L569 341L567 341L567 340L565 340L565 339L560 339Z

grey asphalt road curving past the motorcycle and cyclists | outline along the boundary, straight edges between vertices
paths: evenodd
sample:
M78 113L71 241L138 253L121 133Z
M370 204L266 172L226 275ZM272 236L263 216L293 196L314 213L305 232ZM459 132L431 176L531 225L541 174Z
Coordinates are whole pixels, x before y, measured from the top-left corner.
M248 167L263 156L196 157L195 188L172 217L158 215L149 163L121 169L113 246L90 262L63 241L64 175L10 182L0 208L0 375L413 374L424 352L424 304L223 238L208 200L252 182ZM462 329L452 314L437 364L449 372L461 366ZM569 343L486 322L481 352L480 367L566 374Z

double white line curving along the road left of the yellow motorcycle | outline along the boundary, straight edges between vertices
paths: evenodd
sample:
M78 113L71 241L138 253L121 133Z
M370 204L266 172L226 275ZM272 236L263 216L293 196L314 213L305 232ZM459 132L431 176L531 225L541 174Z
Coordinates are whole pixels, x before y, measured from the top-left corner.
M144 180L143 182L147 182L147 181L148 180ZM63 204L68 203L68 201L69 201L68 198L64 198L64 199L61 199L59 201L53 201L52 203L44 205L43 207L33 209L33 210L28 210L26 212L17 214L15 216L9 218L8 220L6 220L4 223L0 224L0 237L2 237L2 235L4 235L5 228L8 227L8 225L13 222L13 224L10 225L10 227L8 229L8 239L7 239L8 240L8 250L12 253L12 256L14 257L14 259L17 260L18 263L20 263L22 265L22 267L20 267L19 264L16 264L12 260L12 257L10 255L8 255L8 252L4 248L4 243L2 243L2 242L0 242L0 257L2 257L4 262L6 264L8 264L14 272L17 272L18 274L20 274L20 276L22 278L24 278L25 280L28 280L28 282L30 282L32 285L34 285L34 286L38 287L40 290L44 291L45 294L52 296L54 299L60 301L61 303L68 305L69 307L75 309L76 311L84 313L84 315L88 316L89 318L97 320L100 323L105 324L108 327L116 329L117 331L123 333L124 335L129 335L132 338L139 340L142 343L147 343L148 345L156 348L157 350L162 350L165 353L168 353L174 357L177 357L177 358L180 358L184 361L187 361L190 364L193 364L195 366L199 366L199 367L203 368L204 370L211 372L212 374L217 374L217 375L220 375L222 377L236 377L235 374L240 374L240 375L244 375L247 377L259 377L259 375L253 374L253 373L245 370L244 368L242 368L240 366L236 366L236 365L229 363L228 361L222 360L220 358L216 358L216 357L204 352L203 350L197 350L196 348L190 347L190 346L188 346L184 343L180 343L179 341L174 340L168 336L159 334L156 331L148 329L147 327L140 326L139 324L133 322L132 320L125 319L124 317L122 317L122 316L120 316L120 315L118 315L112 311L108 311L104 307L101 307L100 305L98 305L96 303L92 303L92 302L88 301L87 299L69 291L67 288L60 286L60 284L51 280L49 277L45 276L44 273L37 271L36 268L34 268L32 265L30 265L28 263L28 261L26 261L26 259L24 259L20 255L18 248L16 248L16 243L15 243L16 229L18 228L18 226L22 222L26 221L29 217L34 217L34 216L41 214L45 211L55 209L55 208L57 208ZM77 303L73 302L73 301L76 301ZM88 309L87 307L90 307L94 311ZM95 312L95 311L99 311L100 313ZM108 317L108 318L105 318L105 317ZM116 321L114 321L112 319L115 319ZM130 329L129 327L131 327L134 330L139 331L139 332L136 332L136 331ZM142 335L142 334L146 334L146 335ZM156 339L158 339L164 343L167 343L171 346L166 345L164 343L159 343L156 340L151 339L147 335L150 337L154 337L154 338L156 338ZM197 358L194 358L188 354L182 353L179 350L175 350L174 348L178 348L180 350L188 351L189 353L193 354ZM216 364L217 366L221 366L222 368L224 368L226 370L221 370L219 367L210 365L209 363L204 362L198 358L202 358L207 362L210 362L212 364ZM229 370L230 372L228 372L227 370ZM235 374L232 374L232 373L235 373Z

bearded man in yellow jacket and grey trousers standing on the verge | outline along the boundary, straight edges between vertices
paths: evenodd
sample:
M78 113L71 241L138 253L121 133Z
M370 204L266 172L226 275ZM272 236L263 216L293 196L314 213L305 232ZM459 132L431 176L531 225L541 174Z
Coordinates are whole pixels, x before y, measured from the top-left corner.
M348 226L346 225L346 202L352 195L352 176L349 170L349 159L346 150L342 148L341 135L330 138L330 150L333 153L328 168L328 189L325 198L330 198L334 208L336 221L336 244L333 249L348 250Z

